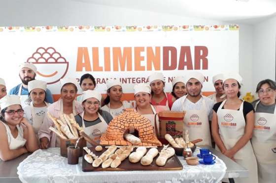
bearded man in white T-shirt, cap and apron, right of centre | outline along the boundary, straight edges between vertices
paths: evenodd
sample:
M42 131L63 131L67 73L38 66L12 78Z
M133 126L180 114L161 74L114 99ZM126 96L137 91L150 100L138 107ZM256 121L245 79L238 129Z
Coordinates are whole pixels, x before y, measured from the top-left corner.
M203 139L199 145L211 146L209 121L212 118L213 101L201 95L204 76L199 72L191 72L184 77L187 95L177 99L172 111L186 111L184 129L189 130L189 139Z

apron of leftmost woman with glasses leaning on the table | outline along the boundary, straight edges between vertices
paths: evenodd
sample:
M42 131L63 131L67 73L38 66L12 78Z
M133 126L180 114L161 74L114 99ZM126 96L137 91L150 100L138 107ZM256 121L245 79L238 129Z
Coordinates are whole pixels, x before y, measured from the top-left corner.
M3 122L2 122L3 123ZM3 123L5 128L6 128L6 134L8 138L8 144L9 144L9 149L14 150L14 149L19 149L23 147L26 144L26 139L23 138L23 129L22 127L19 127L16 125L16 128L18 130L18 135L16 138L14 138L11 134L11 131L9 129L9 126Z

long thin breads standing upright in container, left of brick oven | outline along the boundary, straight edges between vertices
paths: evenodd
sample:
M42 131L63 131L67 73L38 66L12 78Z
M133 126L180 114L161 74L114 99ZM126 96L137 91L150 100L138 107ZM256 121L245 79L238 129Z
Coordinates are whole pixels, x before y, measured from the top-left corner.
M56 127L49 127L49 129L55 132L62 139L76 139L79 137L79 132L83 131L83 128L75 121L73 114L60 114L59 119L53 117L49 112L47 115Z

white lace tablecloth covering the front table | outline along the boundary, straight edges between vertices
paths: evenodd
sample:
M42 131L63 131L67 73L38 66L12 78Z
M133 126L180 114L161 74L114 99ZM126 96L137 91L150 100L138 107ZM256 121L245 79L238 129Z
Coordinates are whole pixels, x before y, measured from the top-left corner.
M199 148L194 156L199 153ZM77 165L69 165L66 157L60 156L59 148L37 150L17 167L17 174L23 183L218 183L226 171L225 163L216 157L213 165L183 164L177 171L103 171L83 172L82 157Z

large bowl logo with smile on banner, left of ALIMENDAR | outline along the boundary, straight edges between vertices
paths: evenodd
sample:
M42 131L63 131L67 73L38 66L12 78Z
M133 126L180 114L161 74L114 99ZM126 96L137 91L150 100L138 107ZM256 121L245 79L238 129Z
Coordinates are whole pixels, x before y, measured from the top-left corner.
M39 47L27 59L37 68L37 78L45 80L47 84L54 84L63 78L69 68L69 62L53 47L47 49Z

